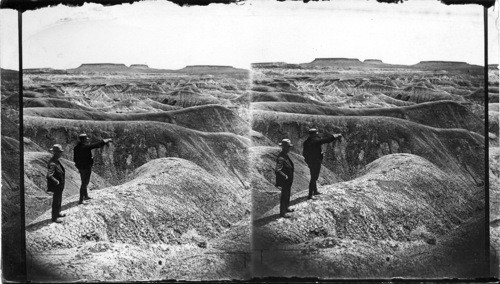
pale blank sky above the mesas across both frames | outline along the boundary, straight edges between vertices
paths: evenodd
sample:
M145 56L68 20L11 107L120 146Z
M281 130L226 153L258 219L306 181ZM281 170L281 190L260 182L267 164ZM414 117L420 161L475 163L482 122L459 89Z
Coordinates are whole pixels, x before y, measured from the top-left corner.
M499 56L497 9L488 10L490 63L498 63ZM24 68L58 69L82 63L249 68L252 62L348 57L483 65L483 32L482 6L447 6L436 0L59 5L23 13L23 62ZM14 10L0 11L0 66L18 69Z

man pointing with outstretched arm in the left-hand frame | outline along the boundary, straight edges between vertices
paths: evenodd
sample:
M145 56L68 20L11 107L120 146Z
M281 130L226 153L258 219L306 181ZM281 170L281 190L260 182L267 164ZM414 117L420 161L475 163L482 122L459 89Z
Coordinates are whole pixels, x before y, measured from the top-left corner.
M94 164L92 149L101 148L112 140L102 139L99 142L90 144L89 138L85 133L80 134L78 139L80 141L73 149L73 161L75 162L78 172L80 172L80 178L82 180L82 185L80 186L80 201L78 204L86 204L84 200L91 199L87 192L87 186L90 182L90 174L92 174L92 165Z

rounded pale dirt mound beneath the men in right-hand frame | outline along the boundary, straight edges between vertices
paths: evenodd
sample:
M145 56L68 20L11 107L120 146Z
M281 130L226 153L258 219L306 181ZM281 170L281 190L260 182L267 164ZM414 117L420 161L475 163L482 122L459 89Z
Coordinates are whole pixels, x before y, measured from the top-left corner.
M484 223L474 219L484 214L482 188L429 161L387 155L358 178L320 191L319 199L295 205L291 219L277 219L276 207L255 221L254 248L267 249L263 268L274 276L473 277L482 272L484 263L475 261L483 257L478 229ZM469 230L463 227L467 222L473 225ZM460 227L477 243L469 243L462 258L453 258L450 251L464 249L466 234L453 236Z

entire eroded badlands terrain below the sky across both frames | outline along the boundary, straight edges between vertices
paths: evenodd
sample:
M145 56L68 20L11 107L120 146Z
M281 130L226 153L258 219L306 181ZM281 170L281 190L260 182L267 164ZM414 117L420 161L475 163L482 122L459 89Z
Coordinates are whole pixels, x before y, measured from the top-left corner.
M488 114L482 67L457 62L26 70L21 144L30 277L481 276L485 137L491 164L499 159L495 68ZM19 134L16 81L4 74L5 224L19 214ZM323 194L307 201L301 144L310 127L344 137L324 146ZM113 143L94 150L94 199L78 206L72 148L81 132ZM278 218L274 187L283 138L296 145L290 219ZM62 224L50 222L45 192L54 143L65 150ZM490 169L491 208L498 208L497 169ZM497 249L498 220L493 210Z

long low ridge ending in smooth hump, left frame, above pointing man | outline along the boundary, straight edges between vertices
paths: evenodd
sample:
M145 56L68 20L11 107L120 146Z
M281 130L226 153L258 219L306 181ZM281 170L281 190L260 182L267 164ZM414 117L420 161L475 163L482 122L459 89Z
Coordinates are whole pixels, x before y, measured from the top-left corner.
M92 121L158 121L204 132L231 132L245 136L249 126L233 111L205 105L157 113L116 114L63 108L25 108L24 116Z

